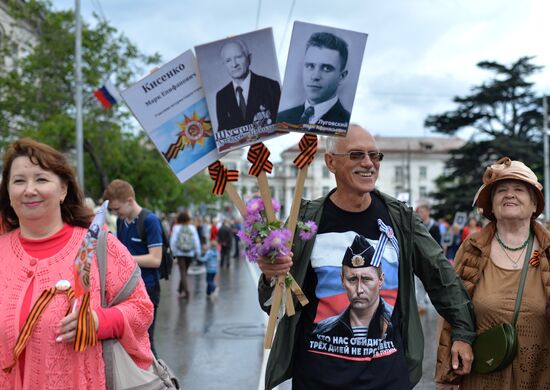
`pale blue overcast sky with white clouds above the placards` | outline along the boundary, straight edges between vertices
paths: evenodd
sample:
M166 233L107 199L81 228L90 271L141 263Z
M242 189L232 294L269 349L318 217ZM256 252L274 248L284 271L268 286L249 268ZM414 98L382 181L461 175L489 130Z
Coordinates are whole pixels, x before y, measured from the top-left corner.
M75 1L53 3L66 9ZM351 119L379 135L433 135L423 126L426 116L453 109L453 96L487 79L476 67L483 60L536 56L546 68L532 81L550 94L547 0L88 0L81 8L86 21L95 11L163 62L196 45L272 27L282 79L295 20L365 32ZM300 137L267 144L278 154Z

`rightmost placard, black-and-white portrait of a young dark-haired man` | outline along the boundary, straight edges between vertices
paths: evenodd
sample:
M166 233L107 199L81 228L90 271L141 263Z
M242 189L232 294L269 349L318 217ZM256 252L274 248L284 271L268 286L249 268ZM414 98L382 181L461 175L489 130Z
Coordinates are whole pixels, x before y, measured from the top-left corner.
M367 34L294 22L277 128L345 136Z

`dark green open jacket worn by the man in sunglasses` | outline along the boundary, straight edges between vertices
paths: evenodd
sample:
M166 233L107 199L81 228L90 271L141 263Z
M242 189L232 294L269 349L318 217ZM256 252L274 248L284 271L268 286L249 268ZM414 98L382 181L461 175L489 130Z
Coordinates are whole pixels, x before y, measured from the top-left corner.
M452 325L453 341L473 343L474 310L462 281L412 208L378 190L374 192L388 208L391 224L399 241L399 290L396 309L399 310L399 326L409 367L409 381L414 386L422 377L424 356L424 336L416 305L414 275L424 284L438 313ZM302 200L299 220L314 220L319 225L325 199L326 197L312 201ZM294 237L294 265L290 273L303 286L315 240L303 241L298 235ZM263 303L271 296L272 287L264 283L263 277L260 277L258 290L260 306L269 313L270 307ZM292 317L285 315L277 327L267 362L266 389L272 389L292 377L296 327L301 315L298 306L297 303L296 314Z

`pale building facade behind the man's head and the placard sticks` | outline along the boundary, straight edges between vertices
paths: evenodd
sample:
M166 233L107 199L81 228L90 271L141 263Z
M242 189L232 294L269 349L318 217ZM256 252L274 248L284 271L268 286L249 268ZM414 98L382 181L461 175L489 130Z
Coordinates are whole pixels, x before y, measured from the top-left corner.
M445 172L445 161L450 150L460 148L464 140L457 137L382 137L375 136L384 160L380 166L377 188L414 206L419 200L431 201L430 193L436 191L435 180ZM299 153L298 145L283 151L281 161L275 162L268 175L271 194L282 205L281 215L286 218L296 192L298 169L293 160ZM308 168L302 197L315 199L328 193L336 182L325 165L325 144L319 137L319 146ZM258 193L256 178L248 175L250 163L243 150L227 154L222 162L239 171L239 181L233 183L243 199Z

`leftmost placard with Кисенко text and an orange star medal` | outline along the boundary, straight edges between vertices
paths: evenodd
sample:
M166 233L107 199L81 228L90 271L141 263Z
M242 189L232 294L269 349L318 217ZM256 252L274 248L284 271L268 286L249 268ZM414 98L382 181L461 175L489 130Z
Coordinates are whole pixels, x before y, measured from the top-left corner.
M182 183L221 157L191 50L121 95Z

